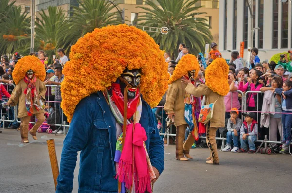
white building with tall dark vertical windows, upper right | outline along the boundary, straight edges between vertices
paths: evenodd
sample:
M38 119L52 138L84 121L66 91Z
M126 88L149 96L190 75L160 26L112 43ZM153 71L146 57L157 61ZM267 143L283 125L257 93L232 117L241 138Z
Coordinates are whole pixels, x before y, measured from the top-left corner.
M219 50L222 56L230 58L231 51L240 50L242 41L245 43L244 59L247 59L249 47L259 49L261 61L291 50L291 0L251 1L253 21L248 0L219 1Z

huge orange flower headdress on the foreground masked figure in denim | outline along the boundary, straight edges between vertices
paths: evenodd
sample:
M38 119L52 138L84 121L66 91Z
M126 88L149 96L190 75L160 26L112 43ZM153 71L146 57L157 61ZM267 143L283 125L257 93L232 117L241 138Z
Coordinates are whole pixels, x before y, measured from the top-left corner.
M63 70L61 106L68 120L81 99L110 87L126 68L141 69L141 94L150 106L157 105L168 88L163 54L146 32L125 24L84 35L72 46Z

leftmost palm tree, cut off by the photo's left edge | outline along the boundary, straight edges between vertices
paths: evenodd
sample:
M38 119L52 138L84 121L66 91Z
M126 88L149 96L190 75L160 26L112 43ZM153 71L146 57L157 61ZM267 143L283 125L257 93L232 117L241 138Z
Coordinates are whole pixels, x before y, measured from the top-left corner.
M0 6L0 54L14 53L29 41L30 17L21 13L21 6L8 2L2 0Z

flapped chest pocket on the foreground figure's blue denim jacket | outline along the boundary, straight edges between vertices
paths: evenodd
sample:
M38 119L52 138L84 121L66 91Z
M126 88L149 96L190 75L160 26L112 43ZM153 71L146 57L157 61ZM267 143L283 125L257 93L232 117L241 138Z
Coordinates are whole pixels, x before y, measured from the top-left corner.
M94 120L93 146L109 147L110 137L106 122L103 119Z

